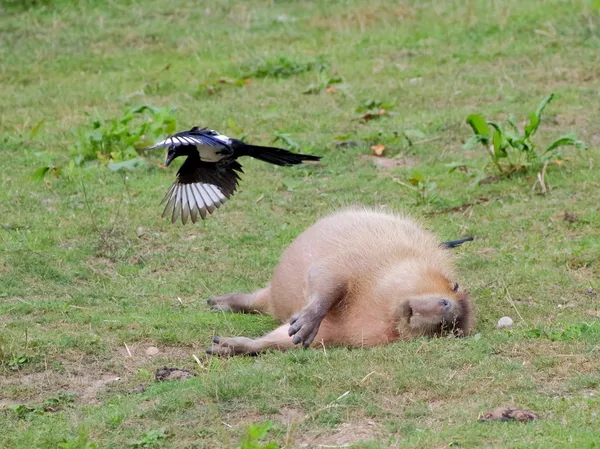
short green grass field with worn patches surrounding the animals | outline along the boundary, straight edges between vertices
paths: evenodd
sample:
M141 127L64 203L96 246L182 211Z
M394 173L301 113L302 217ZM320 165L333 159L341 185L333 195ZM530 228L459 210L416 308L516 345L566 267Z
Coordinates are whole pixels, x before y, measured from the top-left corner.
M600 447L599 7L0 2L0 447L234 448L265 422L279 447ZM479 184L494 172L483 147L463 149L467 115L522 123L551 92L536 139L575 132L589 150L564 150L546 195L535 170ZM94 117L140 105L175 107L178 130L280 133L324 157L245 161L213 217L172 225L159 202L178 164L160 168L163 153L73 167ZM387 112L362 120L361 105ZM32 179L50 165L59 176ZM435 183L422 198L399 184L418 174ZM206 298L263 286L296 235L350 203L475 236L457 263L476 335L208 357L212 335L275 322ZM514 326L496 329L505 315ZM195 376L156 382L162 366ZM499 406L540 419L478 422Z

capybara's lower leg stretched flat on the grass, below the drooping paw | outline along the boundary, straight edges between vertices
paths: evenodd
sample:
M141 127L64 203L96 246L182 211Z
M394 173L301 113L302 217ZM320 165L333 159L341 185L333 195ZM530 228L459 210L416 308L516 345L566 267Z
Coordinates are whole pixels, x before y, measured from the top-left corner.
M256 340L246 337L214 337L212 346L206 352L213 355L255 355L268 349L285 351L294 347L292 337L288 335L289 327L289 324L284 324Z

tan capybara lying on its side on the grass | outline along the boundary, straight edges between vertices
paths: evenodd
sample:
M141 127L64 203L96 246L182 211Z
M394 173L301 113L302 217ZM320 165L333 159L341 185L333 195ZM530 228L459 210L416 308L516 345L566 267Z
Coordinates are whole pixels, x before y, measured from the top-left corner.
M213 310L267 313L286 323L257 339L214 337L207 352L217 355L464 336L474 322L451 250L410 218L356 207L300 234L267 287L208 303Z

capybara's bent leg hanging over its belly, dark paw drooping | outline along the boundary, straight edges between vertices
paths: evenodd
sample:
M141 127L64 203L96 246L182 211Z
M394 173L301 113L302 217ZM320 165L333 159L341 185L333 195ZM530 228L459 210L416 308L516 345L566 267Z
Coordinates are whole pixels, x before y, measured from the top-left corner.
M336 277L329 270L315 266L308 273L307 304L290 320L288 333L294 344L310 346L325 315L346 295L346 281Z

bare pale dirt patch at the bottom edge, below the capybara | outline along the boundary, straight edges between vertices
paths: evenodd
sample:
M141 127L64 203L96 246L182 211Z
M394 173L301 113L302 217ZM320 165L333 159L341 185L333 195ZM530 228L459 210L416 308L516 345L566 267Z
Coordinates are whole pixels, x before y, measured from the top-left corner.
M297 435L293 447L348 447L361 441L377 439L381 433L379 425L374 421L349 422L333 430Z

